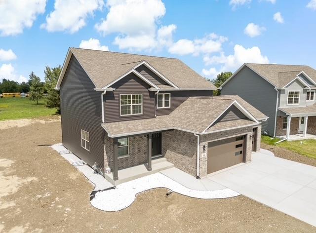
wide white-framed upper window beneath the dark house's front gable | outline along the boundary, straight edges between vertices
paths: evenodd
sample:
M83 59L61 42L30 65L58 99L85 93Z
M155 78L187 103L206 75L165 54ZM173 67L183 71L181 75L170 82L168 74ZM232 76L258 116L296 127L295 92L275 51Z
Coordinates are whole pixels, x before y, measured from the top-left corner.
M143 95L120 95L120 115L126 116L139 114L143 114Z

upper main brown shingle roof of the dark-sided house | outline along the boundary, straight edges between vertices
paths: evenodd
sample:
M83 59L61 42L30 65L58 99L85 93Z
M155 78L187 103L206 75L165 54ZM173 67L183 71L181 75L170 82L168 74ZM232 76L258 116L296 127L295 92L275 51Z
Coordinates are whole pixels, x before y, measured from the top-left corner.
M106 86L142 61L148 62L179 88L216 88L179 59L79 48L70 50L97 88Z

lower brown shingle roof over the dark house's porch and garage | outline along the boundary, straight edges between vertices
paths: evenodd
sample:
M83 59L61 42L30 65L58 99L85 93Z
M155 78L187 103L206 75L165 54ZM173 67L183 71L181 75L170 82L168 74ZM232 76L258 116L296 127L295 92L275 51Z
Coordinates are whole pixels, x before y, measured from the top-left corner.
M202 133L210 124L235 101L241 104L252 116L267 118L237 95L220 97L190 97L167 116L156 118L103 123L109 136L118 137L144 132L155 132L167 129L182 129ZM212 125L206 132L255 123L250 119L223 121Z

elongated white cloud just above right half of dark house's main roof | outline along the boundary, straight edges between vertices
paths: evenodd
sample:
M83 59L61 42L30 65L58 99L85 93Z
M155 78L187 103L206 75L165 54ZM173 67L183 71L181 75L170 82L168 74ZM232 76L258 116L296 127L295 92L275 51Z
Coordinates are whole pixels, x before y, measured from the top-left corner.
M228 38L211 33L202 39L179 39L169 47L169 52L178 55L193 54L194 56L202 54L210 54L222 51L222 44Z

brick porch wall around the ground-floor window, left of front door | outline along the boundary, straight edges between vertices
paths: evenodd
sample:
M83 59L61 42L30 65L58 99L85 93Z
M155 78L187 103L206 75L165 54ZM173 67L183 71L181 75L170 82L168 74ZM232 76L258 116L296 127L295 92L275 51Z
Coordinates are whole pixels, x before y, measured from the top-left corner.
M147 162L147 137L129 137L129 156L118 158L118 169L137 166ZM104 136L104 167L113 170L113 140Z

